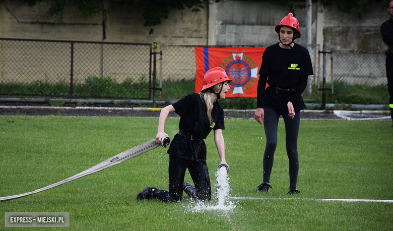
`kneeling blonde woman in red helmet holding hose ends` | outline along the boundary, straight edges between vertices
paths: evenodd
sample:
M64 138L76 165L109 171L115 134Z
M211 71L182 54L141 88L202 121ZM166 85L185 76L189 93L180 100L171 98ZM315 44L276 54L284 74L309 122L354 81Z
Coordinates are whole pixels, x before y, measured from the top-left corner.
M224 110L218 99L224 99L231 82L222 68L212 68L206 72L201 92L189 94L179 101L164 107L158 122L157 143L168 136L164 132L166 118L170 112L180 115L179 132L174 136L169 154L169 191L146 187L138 193L137 200L158 198L164 202L181 201L184 192L195 199L210 200L212 190L206 164L206 144L204 139L214 131L221 164L225 161ZM191 175L195 186L184 182L185 170ZM228 167L229 169L229 167Z

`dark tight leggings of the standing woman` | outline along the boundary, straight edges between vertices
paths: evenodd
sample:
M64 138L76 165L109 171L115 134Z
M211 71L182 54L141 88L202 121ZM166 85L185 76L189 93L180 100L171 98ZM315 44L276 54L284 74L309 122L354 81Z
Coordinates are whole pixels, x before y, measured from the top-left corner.
M297 154L297 137L300 125L300 111L295 112L295 117L291 119L288 111L277 112L271 108L264 108L264 128L266 135L266 147L264 153L264 180L269 183L272 173L274 152L277 147L277 128L282 115L285 123L285 143L289 159L289 189L296 189L297 175L299 172L299 158Z

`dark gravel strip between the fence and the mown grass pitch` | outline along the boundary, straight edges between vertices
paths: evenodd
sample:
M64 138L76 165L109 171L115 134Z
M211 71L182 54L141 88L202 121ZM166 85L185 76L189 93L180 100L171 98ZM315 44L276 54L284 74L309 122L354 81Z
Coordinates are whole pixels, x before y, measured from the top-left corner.
M226 118L253 119L255 110L224 109ZM108 105L48 106L42 103L0 103L0 115L60 115L64 117L159 117L160 108L113 107ZM170 113L169 117L179 117ZM391 120L386 110L303 110L302 120Z

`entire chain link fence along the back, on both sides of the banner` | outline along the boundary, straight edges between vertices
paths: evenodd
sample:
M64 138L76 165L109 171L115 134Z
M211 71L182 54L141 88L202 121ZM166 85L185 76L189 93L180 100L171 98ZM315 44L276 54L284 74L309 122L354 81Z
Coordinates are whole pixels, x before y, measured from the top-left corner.
M328 88L328 103L387 103L383 52L308 49L314 75L305 101L320 101L318 89ZM162 44L160 51L159 99L194 92L194 46ZM152 45L146 43L0 38L0 95L151 99L151 57Z

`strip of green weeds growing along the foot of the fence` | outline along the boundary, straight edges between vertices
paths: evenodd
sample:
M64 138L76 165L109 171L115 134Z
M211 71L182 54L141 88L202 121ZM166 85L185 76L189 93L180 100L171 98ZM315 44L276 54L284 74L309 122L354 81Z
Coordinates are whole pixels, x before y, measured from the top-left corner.
M157 81L156 87L159 87ZM320 86L321 87L321 86ZM326 88L331 88L331 83L326 84ZM179 81L162 81L162 92L156 91L157 100L180 99L195 91L195 80L181 79ZM322 92L317 96L317 86L312 86L312 93L302 96L305 102L321 103ZM0 84L0 93L8 95L63 95L69 96L69 83L49 84L42 81L35 81L31 84ZM152 93L152 92L151 92ZM116 78L89 76L85 83L75 83L73 86L74 97L100 97L100 98L148 98L149 82L145 75L138 80L127 78L122 83L118 83ZM351 85L341 81L334 82L334 97L326 91L326 103L335 104L387 104L389 94L386 85ZM152 95L151 95L152 99ZM227 98L220 100L226 109L255 109L256 98Z

